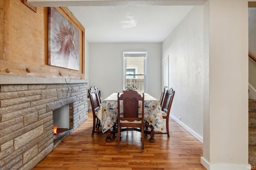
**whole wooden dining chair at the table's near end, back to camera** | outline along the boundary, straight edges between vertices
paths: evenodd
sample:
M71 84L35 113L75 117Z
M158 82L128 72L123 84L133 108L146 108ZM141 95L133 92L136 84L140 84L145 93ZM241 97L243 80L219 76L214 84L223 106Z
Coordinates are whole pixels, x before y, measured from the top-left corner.
M120 114L120 101L123 101L123 114ZM117 150L120 149L120 135L122 127L132 127L126 130L135 130L141 132L141 149L144 152L144 93L143 96L137 91L128 90L123 94L117 95L118 101L118 136L117 136ZM142 103L142 114L139 114L139 101ZM138 129L141 128L141 129Z

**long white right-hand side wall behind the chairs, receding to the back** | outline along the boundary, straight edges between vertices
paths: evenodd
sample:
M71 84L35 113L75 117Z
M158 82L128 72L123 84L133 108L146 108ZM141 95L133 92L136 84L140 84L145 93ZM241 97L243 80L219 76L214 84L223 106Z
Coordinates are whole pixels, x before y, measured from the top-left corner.
M175 90L170 114L202 142L203 138L203 7L195 6L163 42L169 55L169 86ZM178 120L180 116L180 121Z

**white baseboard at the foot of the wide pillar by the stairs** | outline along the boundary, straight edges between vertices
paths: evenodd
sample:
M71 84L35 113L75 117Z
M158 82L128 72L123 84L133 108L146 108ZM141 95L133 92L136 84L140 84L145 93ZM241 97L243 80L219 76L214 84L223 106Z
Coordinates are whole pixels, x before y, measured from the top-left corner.
M251 170L250 164L210 164L204 157L201 157L201 164L207 170Z

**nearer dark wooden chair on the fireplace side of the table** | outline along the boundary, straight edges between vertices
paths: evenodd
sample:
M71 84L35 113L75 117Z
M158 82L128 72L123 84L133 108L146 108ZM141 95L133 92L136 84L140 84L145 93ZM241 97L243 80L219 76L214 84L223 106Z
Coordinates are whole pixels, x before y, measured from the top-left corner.
M92 115L93 115L92 136L94 135L94 132L102 133L102 131L95 131L95 128L99 129L99 127L100 127L100 120L98 119L98 117L95 114L100 108L100 104L98 103L96 93L97 92L95 91L95 89L93 87L91 87L88 90L88 94L89 94L90 102L91 102L91 106L92 106Z

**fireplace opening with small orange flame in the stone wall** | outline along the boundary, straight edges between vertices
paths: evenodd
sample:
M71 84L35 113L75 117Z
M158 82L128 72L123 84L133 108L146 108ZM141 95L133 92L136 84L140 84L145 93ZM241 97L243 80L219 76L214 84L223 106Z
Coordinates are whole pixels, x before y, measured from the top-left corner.
M69 129L69 122L69 105L53 110L54 148L73 131Z

